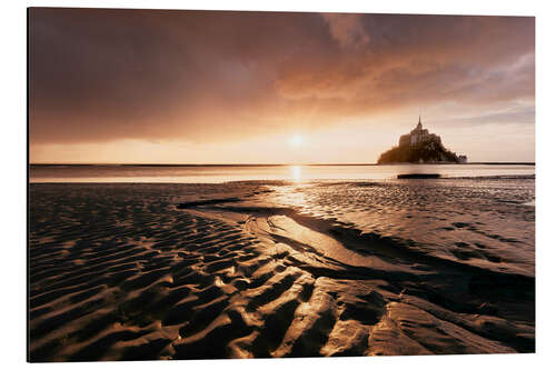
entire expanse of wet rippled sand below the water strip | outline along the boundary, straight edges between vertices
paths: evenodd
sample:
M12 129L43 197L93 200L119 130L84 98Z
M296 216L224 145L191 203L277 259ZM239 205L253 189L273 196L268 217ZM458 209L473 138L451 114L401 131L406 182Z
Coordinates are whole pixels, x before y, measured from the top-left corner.
M30 360L534 351L534 180L435 181L31 184Z

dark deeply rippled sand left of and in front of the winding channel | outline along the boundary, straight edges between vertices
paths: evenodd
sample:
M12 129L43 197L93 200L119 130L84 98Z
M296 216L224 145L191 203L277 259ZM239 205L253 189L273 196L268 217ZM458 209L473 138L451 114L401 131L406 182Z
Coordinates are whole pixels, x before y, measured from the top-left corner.
M251 199L268 189L222 187L205 191ZM176 207L198 197L192 186L32 184L30 360L534 349L534 319L518 314L534 314L530 294L516 302L489 289L489 272L389 252L350 264L341 258L354 243L284 211ZM327 254L327 243L346 254Z

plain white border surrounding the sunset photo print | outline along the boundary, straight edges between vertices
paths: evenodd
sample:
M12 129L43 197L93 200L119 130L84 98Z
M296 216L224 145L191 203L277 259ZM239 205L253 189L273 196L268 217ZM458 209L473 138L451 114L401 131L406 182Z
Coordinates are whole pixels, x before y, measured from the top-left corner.
M0 229L0 362L2 368L88 368L149 369L197 368L209 369L278 369L288 368L388 368L388 369L545 369L556 366L556 289L555 227L553 217L556 189L556 84L555 49L556 14L553 1L8 1L1 8L1 109L3 134L0 149L3 168L1 177ZM147 9L220 9L220 10L291 10L433 14L498 14L536 17L536 277L537 277L537 353L434 356L350 359L279 359L279 360L219 360L219 361L158 361L105 363L26 363L26 246L27 246L27 7L88 7Z

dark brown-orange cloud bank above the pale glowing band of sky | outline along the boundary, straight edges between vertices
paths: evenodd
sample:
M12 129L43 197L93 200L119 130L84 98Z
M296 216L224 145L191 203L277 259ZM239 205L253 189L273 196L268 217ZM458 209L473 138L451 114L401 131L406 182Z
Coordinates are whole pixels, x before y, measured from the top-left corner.
M534 19L30 10L32 143L227 140L534 99Z

